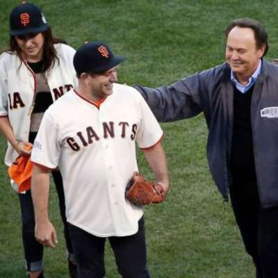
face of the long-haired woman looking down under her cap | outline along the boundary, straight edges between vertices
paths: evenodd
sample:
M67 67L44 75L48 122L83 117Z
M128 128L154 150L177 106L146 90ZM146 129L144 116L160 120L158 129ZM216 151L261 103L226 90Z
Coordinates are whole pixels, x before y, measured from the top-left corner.
M44 36L42 33L32 33L16 36L15 40L22 50L22 55L28 62L38 62L42 60Z

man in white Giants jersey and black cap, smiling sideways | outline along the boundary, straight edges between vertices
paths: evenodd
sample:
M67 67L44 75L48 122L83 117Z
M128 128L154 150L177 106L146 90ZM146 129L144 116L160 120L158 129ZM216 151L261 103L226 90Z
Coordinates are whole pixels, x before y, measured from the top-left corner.
M81 46L74 56L79 87L51 105L33 145L32 195L35 236L54 247L48 218L49 172L63 176L67 222L79 277L104 277L109 239L124 278L149 277L142 206L125 199L136 162L137 142L165 193L169 188L163 131L135 89L115 83L114 56L102 42Z

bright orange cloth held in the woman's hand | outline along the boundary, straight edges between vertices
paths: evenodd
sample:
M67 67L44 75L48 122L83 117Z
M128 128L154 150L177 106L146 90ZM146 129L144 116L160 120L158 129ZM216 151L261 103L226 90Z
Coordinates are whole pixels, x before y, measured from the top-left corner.
M26 149L32 149L32 145L26 147ZM30 158L31 156L18 156L8 168L8 175L10 179L17 183L19 193L31 188L33 163L31 163Z

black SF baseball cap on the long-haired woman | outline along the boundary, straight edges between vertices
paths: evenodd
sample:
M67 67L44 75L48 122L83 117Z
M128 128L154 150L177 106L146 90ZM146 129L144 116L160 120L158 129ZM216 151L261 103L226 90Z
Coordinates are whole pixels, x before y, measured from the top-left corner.
M26 35L46 31L49 26L42 10L23 2L10 13L10 35Z

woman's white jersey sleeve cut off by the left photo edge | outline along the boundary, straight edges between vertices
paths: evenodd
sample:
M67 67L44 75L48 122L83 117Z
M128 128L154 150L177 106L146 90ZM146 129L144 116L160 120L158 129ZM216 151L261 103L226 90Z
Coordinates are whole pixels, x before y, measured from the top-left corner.
M3 55L3 54L2 54ZM8 85L7 72L3 62L3 56L0 57L0 117L8 115Z

